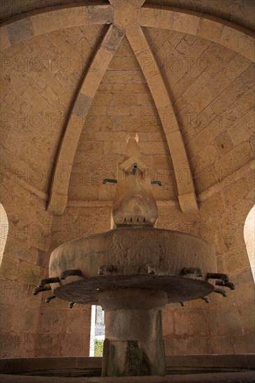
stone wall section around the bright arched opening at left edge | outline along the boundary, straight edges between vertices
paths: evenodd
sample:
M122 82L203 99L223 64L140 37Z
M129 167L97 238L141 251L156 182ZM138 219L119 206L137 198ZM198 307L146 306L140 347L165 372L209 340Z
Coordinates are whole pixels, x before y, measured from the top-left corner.
M2 178L1 203L9 226L0 268L1 357L33 357L42 297L32 292L46 272L52 216L35 189L10 172Z

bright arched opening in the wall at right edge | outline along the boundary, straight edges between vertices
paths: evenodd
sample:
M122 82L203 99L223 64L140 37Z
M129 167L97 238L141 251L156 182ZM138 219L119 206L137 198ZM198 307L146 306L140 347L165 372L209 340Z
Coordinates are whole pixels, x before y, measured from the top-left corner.
M254 237L254 229L255 229L255 205L249 211L249 214L245 220L244 226L244 237L246 249L249 257L249 263L252 268L252 275L255 281L255 237Z

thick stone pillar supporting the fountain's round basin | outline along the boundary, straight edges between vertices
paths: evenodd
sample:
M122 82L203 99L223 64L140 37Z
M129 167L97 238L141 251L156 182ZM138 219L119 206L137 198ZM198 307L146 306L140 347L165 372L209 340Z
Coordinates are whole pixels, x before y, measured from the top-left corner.
M102 376L165 375L162 290L105 290L99 304L105 310Z

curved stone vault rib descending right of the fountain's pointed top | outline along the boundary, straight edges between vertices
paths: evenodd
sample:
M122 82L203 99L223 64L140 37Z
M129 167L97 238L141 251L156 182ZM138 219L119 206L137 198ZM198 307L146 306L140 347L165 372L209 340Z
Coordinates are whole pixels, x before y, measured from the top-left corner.
M127 39L134 51L146 82L153 96L157 112L160 116L164 134L167 137L169 152L173 162L178 187L178 199L183 213L196 212L198 205L190 163L183 143L178 120L171 102L167 87L162 78L160 68L148 45L146 36L139 25L126 31Z

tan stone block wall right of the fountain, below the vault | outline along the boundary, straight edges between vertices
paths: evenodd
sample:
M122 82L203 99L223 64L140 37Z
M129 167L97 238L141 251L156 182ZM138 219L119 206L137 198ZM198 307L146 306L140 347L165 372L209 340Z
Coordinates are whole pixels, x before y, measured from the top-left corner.
M247 166L201 198L196 217L161 208L158 227L182 230L215 245L219 272L229 275L236 290L228 297L212 293L210 304L186 302L163 311L167 354L238 354L254 352L254 281L243 227L254 204L254 170ZM171 224L169 224L171 221Z

